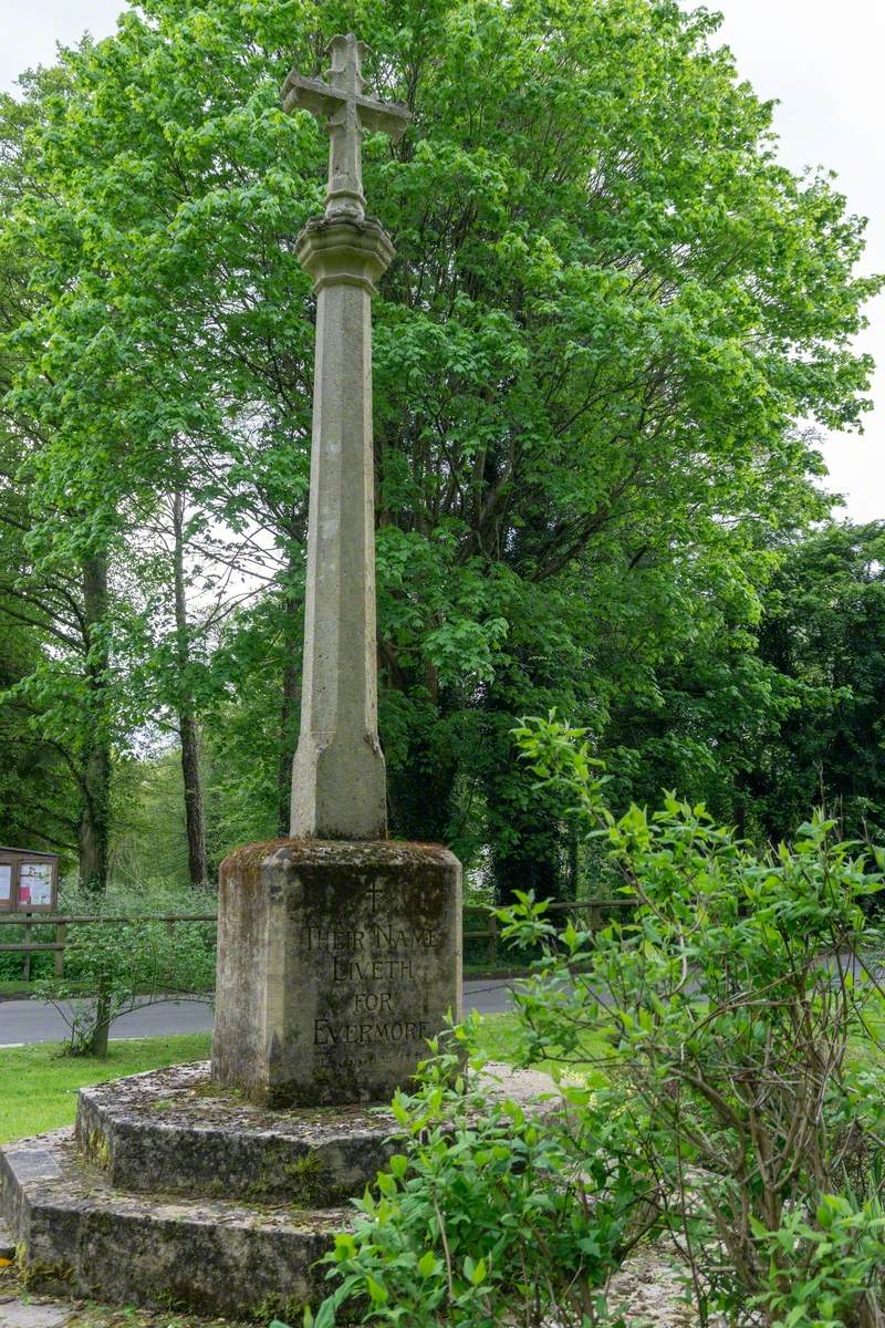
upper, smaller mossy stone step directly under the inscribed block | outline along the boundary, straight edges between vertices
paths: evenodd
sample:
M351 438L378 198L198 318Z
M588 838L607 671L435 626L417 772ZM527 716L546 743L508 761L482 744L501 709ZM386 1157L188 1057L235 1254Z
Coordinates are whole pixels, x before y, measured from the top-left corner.
M77 1142L115 1189L287 1203L345 1203L395 1151L390 1112L268 1112L219 1093L207 1062L80 1092Z

